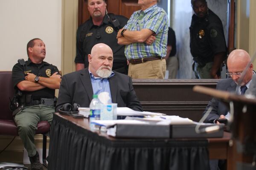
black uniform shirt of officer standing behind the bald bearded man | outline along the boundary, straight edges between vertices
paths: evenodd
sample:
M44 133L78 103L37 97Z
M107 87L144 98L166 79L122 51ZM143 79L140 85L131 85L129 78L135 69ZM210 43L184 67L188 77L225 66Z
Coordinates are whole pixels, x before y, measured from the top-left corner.
M105 43L110 46L113 51L113 70L122 73L122 71L116 69L123 67L127 68L126 57L124 54L125 46L117 43L116 35L119 28L115 28L113 23L110 22L112 19L117 19L119 21L119 28L125 26L128 21L126 17L121 15L108 14L105 15L100 26L93 25L91 17L79 26L76 34L76 63L84 63L84 67L88 67L89 62L87 55L91 53L93 46L98 43Z

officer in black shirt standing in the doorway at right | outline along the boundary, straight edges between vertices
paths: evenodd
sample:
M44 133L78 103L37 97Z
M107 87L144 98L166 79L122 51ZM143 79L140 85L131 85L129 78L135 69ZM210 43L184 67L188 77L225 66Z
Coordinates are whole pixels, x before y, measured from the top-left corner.
M190 26L190 52L197 79L218 79L227 47L220 18L208 7L206 0L191 0L195 12Z

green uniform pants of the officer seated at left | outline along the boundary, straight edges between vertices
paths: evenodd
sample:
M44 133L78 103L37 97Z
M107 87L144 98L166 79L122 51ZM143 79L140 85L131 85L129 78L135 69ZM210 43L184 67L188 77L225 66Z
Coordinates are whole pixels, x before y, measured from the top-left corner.
M36 153L34 137L38 122L47 121L51 124L54 112L54 107L35 105L25 107L15 115L15 123L18 127L20 139L30 157L35 156Z

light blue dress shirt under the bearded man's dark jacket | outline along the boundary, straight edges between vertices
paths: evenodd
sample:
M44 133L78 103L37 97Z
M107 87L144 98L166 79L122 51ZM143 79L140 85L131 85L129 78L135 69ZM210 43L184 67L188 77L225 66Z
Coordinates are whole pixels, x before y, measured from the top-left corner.
M93 94L100 94L101 92L108 92L109 97L111 99L112 103L112 98L111 98L111 91L110 91L110 86L109 86L109 81L108 79L112 76L114 76L114 72L112 71L111 75L108 78L101 78L101 77L95 77L93 74L89 71L90 73L90 79L92 82L93 86Z

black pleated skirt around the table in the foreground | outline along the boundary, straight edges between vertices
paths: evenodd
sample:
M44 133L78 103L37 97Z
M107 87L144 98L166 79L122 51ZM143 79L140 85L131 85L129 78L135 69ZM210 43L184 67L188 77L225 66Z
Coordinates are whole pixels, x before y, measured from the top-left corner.
M207 140L112 140L54 114L48 170L208 170L207 145Z

